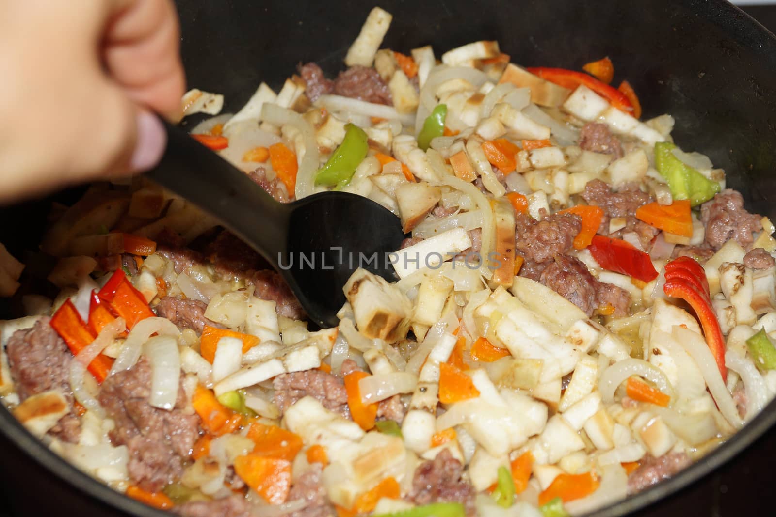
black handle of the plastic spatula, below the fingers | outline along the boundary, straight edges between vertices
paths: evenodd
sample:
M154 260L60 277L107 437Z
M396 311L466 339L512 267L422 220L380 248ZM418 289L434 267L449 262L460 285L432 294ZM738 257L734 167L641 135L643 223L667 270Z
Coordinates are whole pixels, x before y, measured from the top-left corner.
M147 178L213 215L276 267L286 246L286 206L188 133L163 123L167 148Z

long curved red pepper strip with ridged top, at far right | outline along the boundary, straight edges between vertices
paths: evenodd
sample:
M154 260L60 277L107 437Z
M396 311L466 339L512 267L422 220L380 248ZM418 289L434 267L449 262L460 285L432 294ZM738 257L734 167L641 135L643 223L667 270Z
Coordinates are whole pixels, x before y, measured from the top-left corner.
M722 381L727 381L725 339L712 308L712 298L703 267L690 257L678 257L666 264L665 276L663 292L672 298L683 299L695 311L703 327L708 348L712 350L719 373L722 374Z

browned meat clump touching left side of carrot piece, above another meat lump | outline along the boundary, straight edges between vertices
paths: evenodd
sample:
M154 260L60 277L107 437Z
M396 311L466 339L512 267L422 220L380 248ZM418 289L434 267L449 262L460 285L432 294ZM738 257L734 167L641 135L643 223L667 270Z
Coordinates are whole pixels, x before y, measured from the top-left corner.
M580 233L582 223L576 214L553 214L541 221L527 214L514 216L514 248L525 259L542 264L566 253Z

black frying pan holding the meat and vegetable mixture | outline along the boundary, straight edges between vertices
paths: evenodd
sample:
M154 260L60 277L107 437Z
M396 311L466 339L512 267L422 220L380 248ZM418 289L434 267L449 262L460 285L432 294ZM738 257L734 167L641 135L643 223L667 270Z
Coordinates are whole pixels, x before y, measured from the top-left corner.
M329 74L342 66L345 51L372 8L369 2L259 2L181 0L182 52L189 84L227 96L239 109L260 81L277 88L297 63L316 60ZM726 2L701 0L531 0L476 2L434 0L379 2L394 15L385 44L409 50L432 43L437 51L473 40L498 40L517 63L579 68L608 55L615 81L627 78L642 100L644 116L670 113L674 138L684 149L708 154L727 172L728 184L743 192L750 209L776 216L776 39ZM72 193L57 194L72 198ZM48 200L50 201L50 199ZM12 253L36 246L47 202L2 211L0 242ZM25 221L19 232L19 221ZM9 224L9 222L12 222ZM7 305L7 304L6 304ZM14 317L5 305L2 317ZM774 439L762 438L776 422L769 405L740 433L670 481L596 515L636 512L684 488L684 492L641 515L771 515L772 475L764 454ZM50 453L0 409L0 491L12 515L154 515ZM759 441L757 441L759 439ZM757 441L722 469L732 470L726 495L722 470L698 481ZM767 470L766 470L766 467ZM719 486L718 486L719 485ZM751 491L743 490L750 486ZM215 517L215 516L214 516Z

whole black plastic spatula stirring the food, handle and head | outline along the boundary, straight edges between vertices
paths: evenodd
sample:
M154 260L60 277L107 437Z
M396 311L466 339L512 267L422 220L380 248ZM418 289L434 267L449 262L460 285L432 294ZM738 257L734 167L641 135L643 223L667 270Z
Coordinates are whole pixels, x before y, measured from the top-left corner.
M246 174L165 123L168 143L147 177L210 213L253 247L289 284L307 315L337 325L342 287L358 267L393 281L387 253L404 239L396 215L346 192L276 202Z

